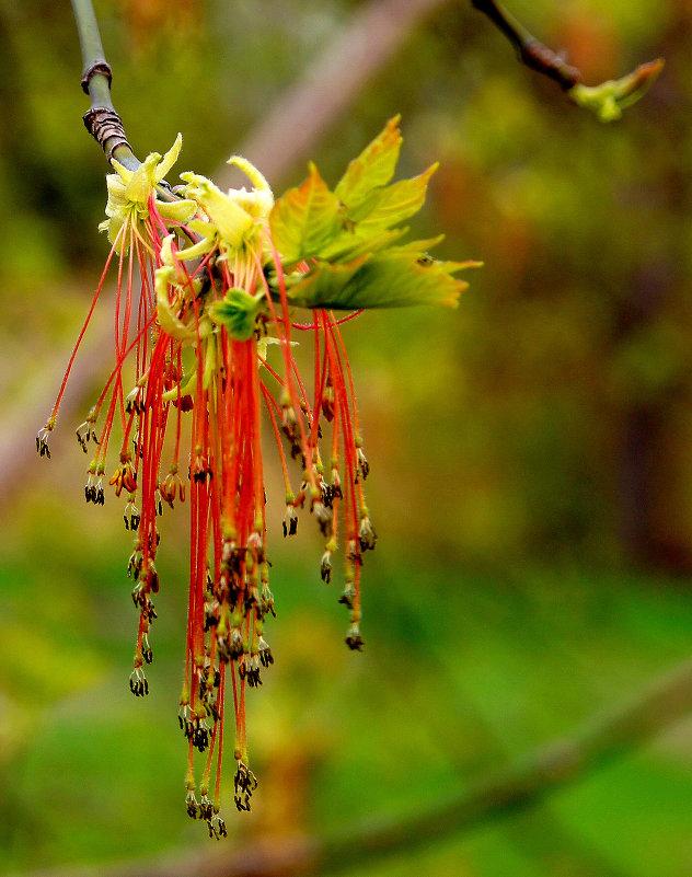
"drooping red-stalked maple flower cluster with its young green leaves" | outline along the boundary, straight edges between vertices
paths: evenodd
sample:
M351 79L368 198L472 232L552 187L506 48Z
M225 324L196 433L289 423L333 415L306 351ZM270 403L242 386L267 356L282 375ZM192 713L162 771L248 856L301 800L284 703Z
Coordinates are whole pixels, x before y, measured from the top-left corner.
M163 158L152 153L136 171L114 160L107 176L107 219L100 228L111 253L36 447L50 455L48 435L74 356L115 263L115 365L77 429L91 455L85 498L103 505L112 487L125 500L139 616L129 679L136 696L149 692L159 516L164 505L188 504L178 722L188 748L187 812L207 822L210 836L227 833L219 812L227 697L234 716L235 806L250 810L257 781L249 764L245 702L274 663L265 638L275 610L262 422L276 438L286 486L284 535L296 533L300 509L312 513L324 539L320 573L326 582L341 543L346 643L360 649L361 566L376 532L341 323L367 308L454 307L466 284L453 275L477 264L432 259L427 250L440 239L399 243L407 231L400 223L422 207L435 171L391 184L400 147L394 118L333 192L311 164L302 185L276 201L262 174L240 157L230 163L249 177L250 189L221 192L204 176L183 173L173 193L164 178L180 136ZM297 308L311 310L309 323L293 322ZM335 311L348 313L337 319ZM293 357L297 334L313 338L310 385ZM112 440L119 452L109 474ZM203 755L199 782L195 752Z

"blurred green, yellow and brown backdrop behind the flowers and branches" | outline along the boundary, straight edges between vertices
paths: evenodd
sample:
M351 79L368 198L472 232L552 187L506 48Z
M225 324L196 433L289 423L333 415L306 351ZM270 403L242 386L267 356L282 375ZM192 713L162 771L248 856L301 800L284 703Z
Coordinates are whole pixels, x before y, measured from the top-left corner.
M180 130L178 169L211 175L367 4L95 5L135 151ZM416 236L445 231L440 255L486 265L455 312L345 326L380 536L366 650L343 645L318 534L284 544L275 504L277 663L251 693L253 815L226 789L235 839L423 809L569 735L692 644L692 3L509 3L589 83L666 57L611 126L520 67L470 5L416 22L310 148L334 183L402 113L401 175L441 162ZM163 521L152 693L135 701L130 538L111 497L84 505L73 440L106 374L100 349L85 348L53 459L31 453L107 252L69 4L0 0L0 873L69 873L207 843L185 816L176 723L186 520ZM303 172L301 157L270 182ZM692 719L540 806L351 869L691 873Z

